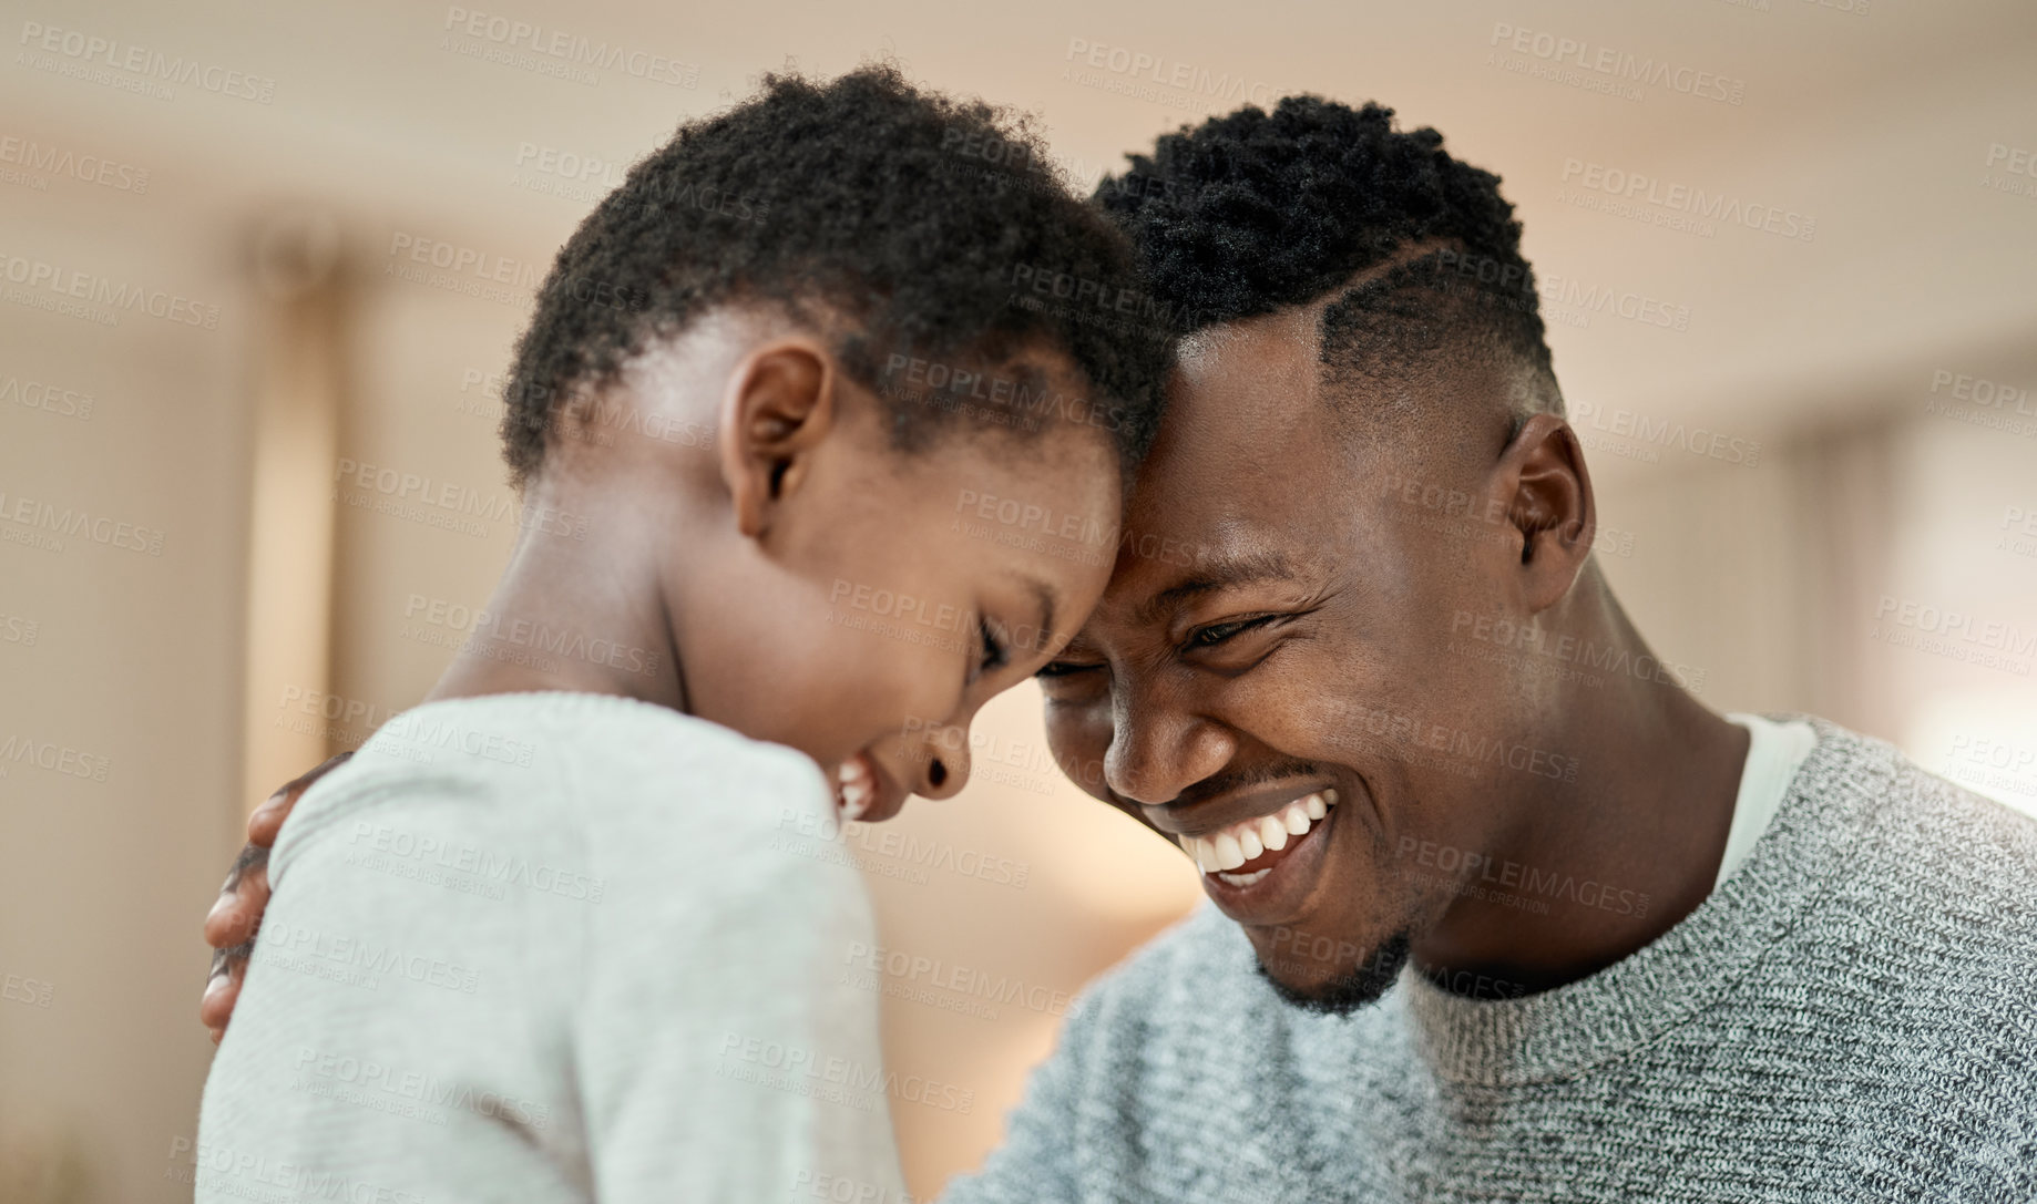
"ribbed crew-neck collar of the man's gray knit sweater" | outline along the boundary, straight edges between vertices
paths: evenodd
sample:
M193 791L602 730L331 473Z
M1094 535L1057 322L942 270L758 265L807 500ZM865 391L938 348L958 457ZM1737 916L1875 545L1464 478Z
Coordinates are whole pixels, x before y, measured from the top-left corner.
M1817 905L1894 778L1892 748L1807 719L1817 748L1768 831L1731 878L1646 947L1589 978L1509 1000L1450 994L1410 966L1399 994L1424 1061L1467 1084L1562 1080L1654 1041L1733 990Z

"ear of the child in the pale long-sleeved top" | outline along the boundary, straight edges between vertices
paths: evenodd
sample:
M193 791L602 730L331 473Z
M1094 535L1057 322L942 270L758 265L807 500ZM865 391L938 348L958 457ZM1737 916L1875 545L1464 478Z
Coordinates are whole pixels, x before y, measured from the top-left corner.
M735 526L762 536L778 503L805 485L813 452L839 422L835 359L811 338L776 338L746 354L721 395L721 479Z

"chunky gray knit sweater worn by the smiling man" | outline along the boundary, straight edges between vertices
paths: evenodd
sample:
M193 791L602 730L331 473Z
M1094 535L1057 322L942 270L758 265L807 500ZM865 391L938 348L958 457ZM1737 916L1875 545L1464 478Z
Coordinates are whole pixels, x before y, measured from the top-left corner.
M2037 1200L2037 823L1817 729L1750 860L1558 990L1318 1017L1204 907L945 1204Z

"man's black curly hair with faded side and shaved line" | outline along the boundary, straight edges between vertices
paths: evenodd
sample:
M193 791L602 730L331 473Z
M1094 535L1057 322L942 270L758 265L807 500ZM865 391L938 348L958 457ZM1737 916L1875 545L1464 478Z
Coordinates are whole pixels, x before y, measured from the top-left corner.
M1155 293L1202 324L1332 297L1322 363L1383 385L1511 359L1511 412L1562 412L1534 269L1499 177L1393 110L1287 96L1163 134L1096 202L1131 234ZM1373 271L1353 283L1359 273Z

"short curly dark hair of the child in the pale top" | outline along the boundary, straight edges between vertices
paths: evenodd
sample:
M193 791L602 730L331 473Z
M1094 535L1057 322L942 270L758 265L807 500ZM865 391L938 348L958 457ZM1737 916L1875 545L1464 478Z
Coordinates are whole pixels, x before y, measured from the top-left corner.
M986 143L1027 149L1006 165L1025 187L957 171L955 147ZM538 293L503 397L511 481L536 475L574 399L737 302L837 318L817 326L839 328L837 359L880 395L904 452L964 416L1043 430L1025 414L1045 397L1029 369L1041 352L1067 357L1098 395L1078 420L1112 436L1131 481L1159 426L1169 348L1014 295L1014 273L1041 265L1124 291L1139 281L1124 234L1049 163L1025 118L919 90L888 63L831 81L766 75L750 100L682 124L581 222ZM929 363L939 383L970 385L966 403L888 381L898 365L925 381ZM1004 387L976 387L986 367L1014 365Z

